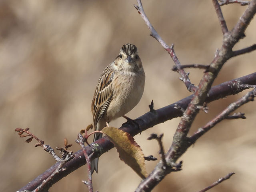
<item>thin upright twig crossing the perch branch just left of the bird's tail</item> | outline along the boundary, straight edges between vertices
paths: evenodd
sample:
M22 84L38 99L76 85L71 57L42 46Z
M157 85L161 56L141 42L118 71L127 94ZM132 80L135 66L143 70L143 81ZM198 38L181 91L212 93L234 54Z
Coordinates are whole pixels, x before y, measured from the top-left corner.
M82 150L83 150L83 153L84 153L84 157L86 159L86 163L87 163L87 171L88 171L88 181L82 181L84 184L86 184L86 186L88 187L88 190L89 192L93 192L93 188L92 188L92 167L91 167L91 158L92 158L92 155L93 155L93 152L88 155L87 152L86 152L86 148L84 146L84 137L82 136L81 133L78 134L77 136L77 139L76 139L76 143L80 144ZM86 138L87 139L87 138Z

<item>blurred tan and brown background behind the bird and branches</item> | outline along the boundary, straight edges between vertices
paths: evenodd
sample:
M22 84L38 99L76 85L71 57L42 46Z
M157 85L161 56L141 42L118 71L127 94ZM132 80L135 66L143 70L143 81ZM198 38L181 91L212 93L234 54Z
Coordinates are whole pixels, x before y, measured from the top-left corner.
M53 148L73 144L78 132L92 123L92 96L100 74L116 58L123 44L136 44L146 73L144 95L127 114L137 118L154 108L176 102L191 93L172 72L168 53L149 36L150 32L135 10L135 0L0 0L0 190L16 191L52 166L55 161L33 140L27 144L14 129L30 131ZM211 1L144 0L144 10L160 36L174 43L182 64L209 64L222 44L222 32ZM231 4L222 10L229 29L246 6ZM256 42L252 20L246 38L234 48ZM256 52L228 60L214 85L255 72ZM203 70L187 69L198 84ZM230 102L248 91L209 104L209 113L200 114L192 134ZM154 192L198 191L229 172L229 180L211 191L248 191L256 188L256 102L241 107L246 120L224 120L207 132L180 158L182 171L172 173ZM148 129L135 140L145 156L159 157L151 133L164 133L167 151L180 118ZM111 122L120 127L124 118ZM148 173L157 162L146 162ZM54 184L51 191L86 191L86 166ZM134 191L140 177L118 158L116 149L100 157L99 172L93 175L94 190Z

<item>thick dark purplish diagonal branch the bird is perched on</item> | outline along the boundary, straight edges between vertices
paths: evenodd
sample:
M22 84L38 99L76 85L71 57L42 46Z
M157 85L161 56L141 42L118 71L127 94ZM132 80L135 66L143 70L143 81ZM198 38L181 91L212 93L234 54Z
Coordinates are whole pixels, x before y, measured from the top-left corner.
M249 74L247 76L230 80L228 82L224 82L220 85L214 86L213 88L211 88L208 94L208 97L206 99L206 102L212 102L214 100L224 98L228 95L237 94L242 90L247 89L246 87L241 88L240 87L241 84L255 85L256 73ZM155 126L156 124L160 124L167 120L171 120L172 118L182 116L182 111L176 109L176 106L180 106L181 108L186 108L188 106L188 103L192 99L192 97L193 95L188 96L174 104L154 110L153 112L147 112L143 116L140 116L139 118L136 119L136 122L140 126L140 129L136 127L135 124L126 124L126 127L122 127L121 129L126 132L129 132L132 136L134 136L140 133L140 130L146 130L148 128ZM110 142L110 140L106 136L101 138L100 140L97 140L94 144L91 144L91 146L92 147L86 146L86 153L90 155L92 154L94 149L95 152L92 156L92 159L100 156L101 154L107 152L108 150L114 147L114 145ZM60 179L67 176L68 174L70 174L71 172L73 172L74 170L78 169L79 167L83 166L86 163L84 158L84 153L82 150L79 150L74 154L75 154L75 157L64 165L65 170L54 175L51 182L49 182L48 185L41 191L47 191L54 183L58 182ZM44 179L48 178L56 170L56 168L58 168L59 164L60 162L57 162L56 164L54 164L44 173L42 173L37 178L29 182L26 186L22 187L19 191L34 190L37 186L39 186L42 183Z

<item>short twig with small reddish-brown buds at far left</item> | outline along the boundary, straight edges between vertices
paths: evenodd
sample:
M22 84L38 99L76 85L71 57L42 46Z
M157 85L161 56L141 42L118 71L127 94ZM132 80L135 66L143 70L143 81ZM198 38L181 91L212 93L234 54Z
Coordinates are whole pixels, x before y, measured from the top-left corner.
M28 138L26 140L26 142L31 142L32 138L36 139L39 143L35 144L35 147L42 147L46 152L48 152L57 162L60 160L60 157L58 155L56 155L56 153L54 152L54 149L51 148L49 145L44 144L43 140L40 140L37 136L35 136L34 134L32 134L31 132L28 131L29 128L26 129L22 129L22 128L16 128L15 131L18 132L18 135L20 135L20 137L27 137L30 136L30 138ZM26 133L27 135L23 135L23 133Z

